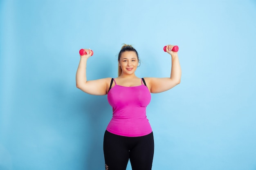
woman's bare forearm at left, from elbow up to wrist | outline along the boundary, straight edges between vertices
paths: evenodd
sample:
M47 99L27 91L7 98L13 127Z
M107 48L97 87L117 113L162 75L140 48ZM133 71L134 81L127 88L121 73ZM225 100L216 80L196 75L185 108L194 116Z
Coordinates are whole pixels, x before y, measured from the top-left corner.
M76 87L79 88L86 83L86 64L87 58L81 57L79 66L76 71Z

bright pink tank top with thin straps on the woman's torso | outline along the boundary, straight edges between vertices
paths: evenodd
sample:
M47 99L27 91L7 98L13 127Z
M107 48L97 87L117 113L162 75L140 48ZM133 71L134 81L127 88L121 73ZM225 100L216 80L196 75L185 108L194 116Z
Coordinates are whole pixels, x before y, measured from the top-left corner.
M115 81L115 79L114 79ZM107 130L115 135L139 137L152 132L146 117L146 107L151 99L147 86L119 86L115 82L108 92L108 102L113 116Z

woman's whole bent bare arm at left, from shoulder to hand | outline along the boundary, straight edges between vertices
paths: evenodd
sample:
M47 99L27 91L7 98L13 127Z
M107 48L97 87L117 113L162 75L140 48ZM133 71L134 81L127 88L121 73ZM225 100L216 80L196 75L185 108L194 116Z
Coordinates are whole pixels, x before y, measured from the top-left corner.
M92 51L85 49L88 54L80 55L79 66L76 71L76 87L91 95L106 95L108 82L110 78L96 79L87 81L86 64L88 58L92 55Z

